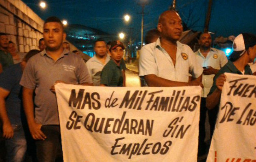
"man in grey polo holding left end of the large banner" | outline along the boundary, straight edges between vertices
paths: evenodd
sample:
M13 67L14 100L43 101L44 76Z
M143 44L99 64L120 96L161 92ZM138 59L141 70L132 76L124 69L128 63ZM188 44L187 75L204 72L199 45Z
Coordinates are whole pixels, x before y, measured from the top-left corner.
M57 17L49 17L43 25L46 50L33 56L27 63L20 85L30 133L35 139L39 162L54 161L61 134L54 83L91 85L87 67L78 55L64 50L63 24ZM35 114L33 104L35 92ZM35 115L35 116L34 116Z

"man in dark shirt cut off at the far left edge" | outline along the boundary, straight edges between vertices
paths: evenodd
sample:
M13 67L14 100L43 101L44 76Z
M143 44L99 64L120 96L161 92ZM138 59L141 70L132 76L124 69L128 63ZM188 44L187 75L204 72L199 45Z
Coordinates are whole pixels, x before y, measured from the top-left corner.
M11 54L7 52L8 43L7 34L0 33L0 73L13 64L13 58Z

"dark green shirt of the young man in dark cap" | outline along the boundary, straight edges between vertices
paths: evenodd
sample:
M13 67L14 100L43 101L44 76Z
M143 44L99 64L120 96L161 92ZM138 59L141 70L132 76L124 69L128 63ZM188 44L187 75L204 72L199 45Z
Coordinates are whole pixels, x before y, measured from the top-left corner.
M123 86L122 68L112 59L102 69L100 78L100 84L104 84L109 87Z

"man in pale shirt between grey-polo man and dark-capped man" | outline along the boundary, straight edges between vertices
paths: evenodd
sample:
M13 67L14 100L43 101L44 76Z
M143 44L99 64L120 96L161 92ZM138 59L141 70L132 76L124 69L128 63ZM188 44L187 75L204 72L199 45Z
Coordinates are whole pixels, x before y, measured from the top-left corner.
M107 54L106 42L99 38L94 42L95 55L86 62L86 66L89 70L89 74L93 80L94 86L100 85L100 73L102 68L110 60L110 56Z

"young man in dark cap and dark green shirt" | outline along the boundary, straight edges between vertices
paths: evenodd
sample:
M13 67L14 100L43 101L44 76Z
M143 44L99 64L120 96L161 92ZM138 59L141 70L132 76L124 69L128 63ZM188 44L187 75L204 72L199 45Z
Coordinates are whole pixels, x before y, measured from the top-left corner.
M104 66L100 75L100 86L123 87L124 69L120 66L124 54L124 45L119 40L111 42L111 60Z

